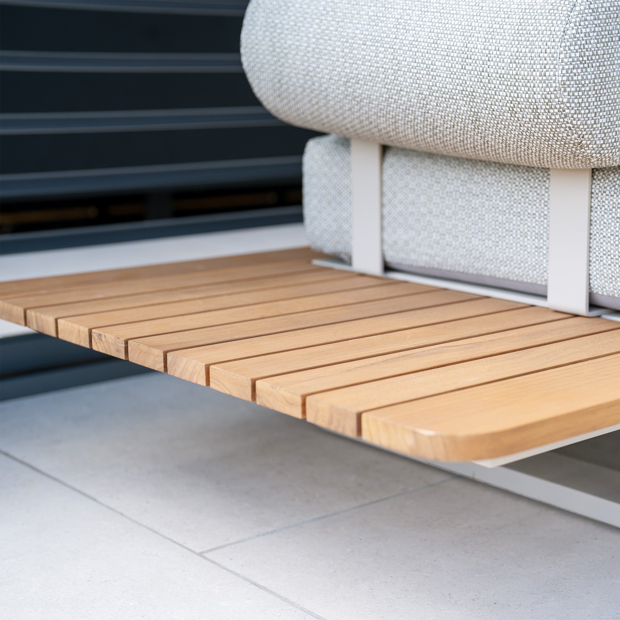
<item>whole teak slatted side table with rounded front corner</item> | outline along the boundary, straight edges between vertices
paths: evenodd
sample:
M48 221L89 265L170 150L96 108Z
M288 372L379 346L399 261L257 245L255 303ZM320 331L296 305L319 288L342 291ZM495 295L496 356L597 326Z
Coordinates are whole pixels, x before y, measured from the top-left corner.
M484 461L620 424L620 322L318 256L11 281L0 317L417 458Z

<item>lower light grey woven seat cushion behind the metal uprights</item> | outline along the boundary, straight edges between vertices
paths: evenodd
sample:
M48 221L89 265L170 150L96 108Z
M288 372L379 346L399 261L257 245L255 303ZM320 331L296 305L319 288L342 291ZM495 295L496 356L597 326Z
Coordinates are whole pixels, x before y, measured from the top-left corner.
M348 140L311 139L304 154L308 238L347 262L350 204ZM548 229L549 170L386 148L386 262L546 286ZM593 170L590 290L620 298L620 167Z

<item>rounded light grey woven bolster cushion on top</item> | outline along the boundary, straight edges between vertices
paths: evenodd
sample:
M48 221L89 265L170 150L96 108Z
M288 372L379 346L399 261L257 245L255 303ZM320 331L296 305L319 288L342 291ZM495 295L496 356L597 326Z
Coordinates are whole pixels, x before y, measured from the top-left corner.
M620 165L620 0L252 0L262 104L293 125L523 166Z

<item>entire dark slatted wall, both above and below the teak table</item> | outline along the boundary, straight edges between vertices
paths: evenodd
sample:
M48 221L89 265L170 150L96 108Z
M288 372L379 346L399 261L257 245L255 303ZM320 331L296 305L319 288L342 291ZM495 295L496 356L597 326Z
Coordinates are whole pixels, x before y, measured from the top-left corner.
M0 0L0 197L11 210L96 212L81 197L150 195L147 217L167 218L170 192L221 187L249 188L237 205L272 207L2 234L1 253L299 221L300 208L272 206L274 190L301 182L316 134L254 97L239 60L246 4ZM0 399L145 371L42 334L0 339L0 361Z

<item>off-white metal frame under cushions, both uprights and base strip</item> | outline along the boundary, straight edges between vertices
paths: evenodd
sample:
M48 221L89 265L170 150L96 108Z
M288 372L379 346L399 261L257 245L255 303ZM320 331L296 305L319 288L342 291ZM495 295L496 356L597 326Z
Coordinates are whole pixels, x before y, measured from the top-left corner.
M350 145L352 265L337 259L315 260L317 265L620 321L620 312L590 306L589 303L590 168L549 170L549 292L547 297L542 297L494 286L386 271L381 238L383 146L360 139L351 139Z

